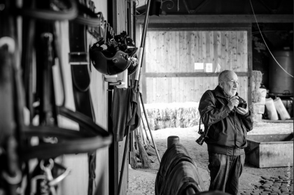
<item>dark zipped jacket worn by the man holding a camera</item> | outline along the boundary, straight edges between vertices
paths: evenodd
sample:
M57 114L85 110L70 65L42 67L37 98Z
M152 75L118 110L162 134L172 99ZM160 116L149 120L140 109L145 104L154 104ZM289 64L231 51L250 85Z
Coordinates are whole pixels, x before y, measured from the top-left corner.
M251 113L249 111L246 115L239 115L235 109L230 110L228 103L219 86L214 90L207 90L200 99L198 110L205 130L209 127L209 138L205 142L209 152L244 154L247 132L253 128Z

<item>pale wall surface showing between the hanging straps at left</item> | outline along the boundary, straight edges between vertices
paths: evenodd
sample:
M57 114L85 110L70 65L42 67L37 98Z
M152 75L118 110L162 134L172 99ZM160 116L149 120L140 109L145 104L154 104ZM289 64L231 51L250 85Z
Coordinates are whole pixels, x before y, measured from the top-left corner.
M93 0L96 11L101 11L104 15L105 20L107 20L107 1L106 0ZM66 66L64 74L66 77L67 85L67 99L69 99L66 105L66 108L75 110L74 101L73 101L73 92L72 92L72 83L71 83L71 69L69 65L69 26L68 22L62 22L60 24L61 29L61 38L62 41L62 61ZM90 34L87 34L87 45L92 45L96 41ZM92 66L92 64L90 65ZM100 126L107 129L107 85L104 82L103 75L96 71L94 66L91 68L90 77L90 93L92 97L92 103L95 113L95 121ZM78 125L69 120L61 119L60 120L62 127L76 128ZM97 194L106 195L109 194L109 148L102 148L97 150L97 160L96 160L96 185L94 185L93 192ZM87 154L71 154L64 155L63 164L67 168L71 169L71 173L64 181L62 182L61 188L59 188L59 194L70 194L70 195L80 195L87 194L87 185L88 185L88 160Z

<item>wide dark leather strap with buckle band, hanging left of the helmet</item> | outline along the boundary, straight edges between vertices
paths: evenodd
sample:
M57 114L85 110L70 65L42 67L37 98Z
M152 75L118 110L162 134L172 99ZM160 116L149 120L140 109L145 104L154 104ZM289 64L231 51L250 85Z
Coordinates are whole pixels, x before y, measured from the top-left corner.
M94 5L92 5L94 6ZM73 81L73 97L76 110L87 115L92 121L95 120L94 109L92 107L92 99L90 94L90 62L87 54L87 34L89 26L99 27L101 18L92 10L93 7L78 4L79 15L76 20L69 23L70 28L70 59L71 75ZM91 10L92 8L92 10ZM85 17L87 15L87 17ZM101 15L101 14L100 14ZM86 26L87 25L87 26ZM80 124L80 131L88 131L87 128ZM93 194L94 179L96 177L96 151L88 152L88 190L87 194Z

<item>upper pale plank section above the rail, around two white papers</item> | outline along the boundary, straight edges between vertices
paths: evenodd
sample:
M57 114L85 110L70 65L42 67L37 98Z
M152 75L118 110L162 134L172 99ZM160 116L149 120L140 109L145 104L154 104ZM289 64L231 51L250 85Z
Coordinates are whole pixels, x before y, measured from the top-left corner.
M146 73L195 72L194 63L248 71L246 31L148 31ZM200 71L200 70L196 70Z

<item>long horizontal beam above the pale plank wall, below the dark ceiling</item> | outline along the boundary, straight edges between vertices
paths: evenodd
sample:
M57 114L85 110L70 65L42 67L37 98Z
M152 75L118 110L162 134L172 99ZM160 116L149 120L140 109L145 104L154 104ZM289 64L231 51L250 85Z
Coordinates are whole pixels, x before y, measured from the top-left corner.
M258 22L293 23L293 15L255 15ZM144 22L144 15L137 17L137 22ZM151 15L149 23L255 23L254 15Z

